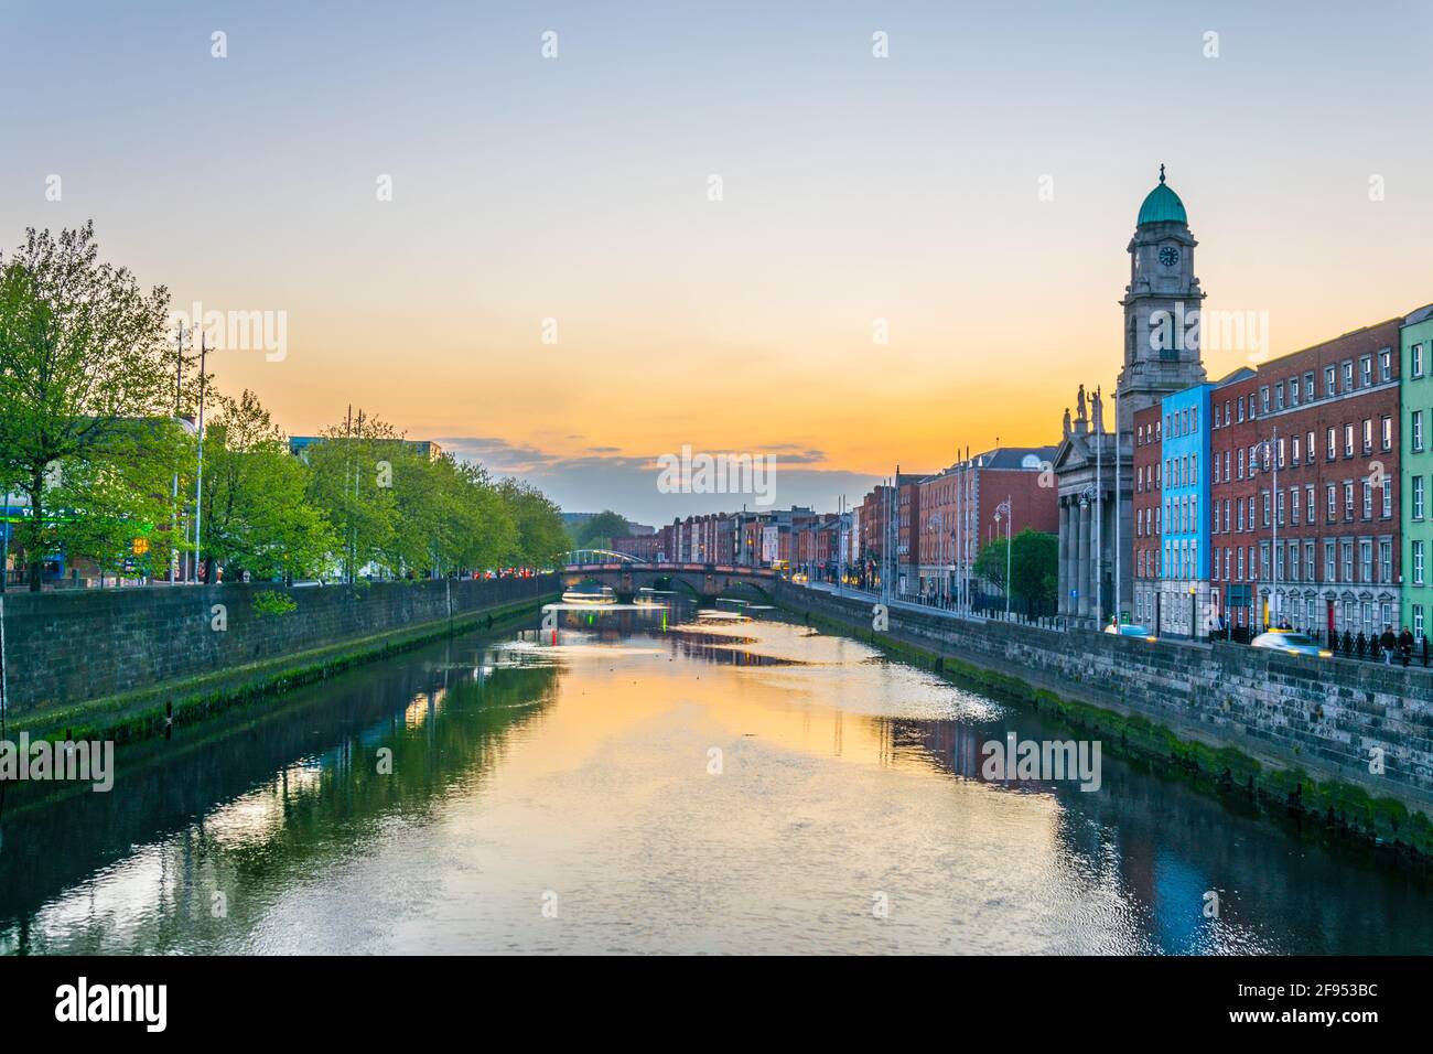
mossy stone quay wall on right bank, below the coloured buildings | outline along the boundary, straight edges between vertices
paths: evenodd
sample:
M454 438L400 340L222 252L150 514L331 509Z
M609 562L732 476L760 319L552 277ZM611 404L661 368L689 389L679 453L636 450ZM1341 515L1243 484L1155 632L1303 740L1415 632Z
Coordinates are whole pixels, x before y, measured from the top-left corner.
M1433 670L1314 660L1222 641L1145 641L1092 630L957 619L790 582L777 602L1016 677L1062 698L1141 714L1185 739L1364 787L1433 815ZM1370 771L1381 750L1383 774Z

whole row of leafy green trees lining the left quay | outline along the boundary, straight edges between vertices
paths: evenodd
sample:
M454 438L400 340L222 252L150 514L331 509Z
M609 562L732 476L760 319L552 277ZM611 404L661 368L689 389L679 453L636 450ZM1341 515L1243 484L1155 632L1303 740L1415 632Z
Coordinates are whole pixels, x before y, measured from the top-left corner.
M146 295L99 261L93 225L30 229L0 258L0 486L33 511L11 546L33 589L59 552L162 576L196 513L208 581L219 566L231 581L481 574L552 566L566 548L557 506L535 488L428 457L363 413L294 457L248 390L206 387L192 508L199 450L176 406L192 413L208 379L169 343L168 305L165 288Z

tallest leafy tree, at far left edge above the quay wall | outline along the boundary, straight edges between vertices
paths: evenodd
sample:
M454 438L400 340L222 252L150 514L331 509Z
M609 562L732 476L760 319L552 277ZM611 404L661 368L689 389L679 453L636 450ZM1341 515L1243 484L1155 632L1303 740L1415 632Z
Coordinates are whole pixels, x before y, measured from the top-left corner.
M75 538L53 515L52 466L112 479L133 423L169 413L168 310L166 288L146 295L128 268L99 261L93 222L57 238L29 228L0 260L0 483L30 502L17 532L30 589L44 555Z

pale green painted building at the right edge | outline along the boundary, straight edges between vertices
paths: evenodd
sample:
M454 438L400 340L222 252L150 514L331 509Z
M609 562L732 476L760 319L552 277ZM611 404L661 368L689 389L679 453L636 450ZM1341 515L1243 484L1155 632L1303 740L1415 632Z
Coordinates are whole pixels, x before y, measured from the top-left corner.
M1401 625L1416 638L1433 632L1433 304L1399 330L1399 483L1403 535ZM1401 627L1400 627L1401 628Z

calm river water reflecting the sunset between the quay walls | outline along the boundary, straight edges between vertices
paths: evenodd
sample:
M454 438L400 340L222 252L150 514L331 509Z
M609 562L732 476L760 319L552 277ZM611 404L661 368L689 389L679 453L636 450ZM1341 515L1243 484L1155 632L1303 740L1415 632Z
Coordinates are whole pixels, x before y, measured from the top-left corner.
M0 952L1433 948L1426 879L1109 751L986 780L1075 734L721 608L563 609L122 746L110 793L11 784Z

